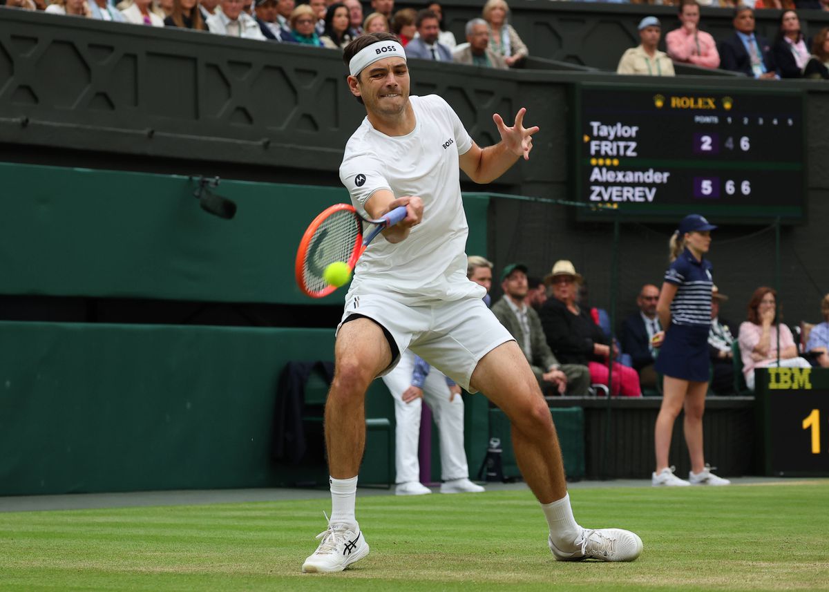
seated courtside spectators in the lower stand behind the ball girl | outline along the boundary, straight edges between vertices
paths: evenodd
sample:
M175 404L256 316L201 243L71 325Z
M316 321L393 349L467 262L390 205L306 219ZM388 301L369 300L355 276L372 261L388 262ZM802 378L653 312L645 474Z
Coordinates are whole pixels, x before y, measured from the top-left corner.
M500 274L503 296L492 312L516 338L546 396L584 396L604 392L608 358L613 357L613 395L659 395L662 377L654 363L665 336L657 315L660 289L642 286L638 310L611 341L607 313L591 306L586 281L567 260L556 261L544 279L528 275L524 264L509 264ZM746 318L734 325L720 318L720 303L729 299L717 286L711 293L709 392L734 395L754 391L754 371L776 366L829 367L829 294L820 303L822 323L794 328L778 321L783 307L768 287L749 298ZM816 314L817 317L817 314ZM779 337L779 342L778 342Z

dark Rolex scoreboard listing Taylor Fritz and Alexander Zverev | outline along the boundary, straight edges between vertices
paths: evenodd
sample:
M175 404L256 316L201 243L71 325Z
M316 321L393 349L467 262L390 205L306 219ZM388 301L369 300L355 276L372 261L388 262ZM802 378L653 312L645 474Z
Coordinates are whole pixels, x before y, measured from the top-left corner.
M589 84L576 92L579 201L642 220L804 216L802 92Z

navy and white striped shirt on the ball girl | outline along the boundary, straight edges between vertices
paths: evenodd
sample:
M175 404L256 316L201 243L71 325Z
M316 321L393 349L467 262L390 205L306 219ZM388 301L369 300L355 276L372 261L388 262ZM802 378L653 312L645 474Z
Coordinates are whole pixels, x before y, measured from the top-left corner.
M711 264L697 261L683 250L665 272L665 281L677 286L671 302L671 324L709 328L711 324Z

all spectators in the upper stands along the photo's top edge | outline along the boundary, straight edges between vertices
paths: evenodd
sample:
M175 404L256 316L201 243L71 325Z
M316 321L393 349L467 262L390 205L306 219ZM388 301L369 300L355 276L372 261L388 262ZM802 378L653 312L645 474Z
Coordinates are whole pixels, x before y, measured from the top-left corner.
M505 0L487 0L481 17L467 22L465 41L458 43L444 29L439 2L416 11L395 11L395 0L371 0L364 17L360 0L6 0L7 7L149 27L179 27L259 41L298 43L342 49L366 32L392 32L400 37L409 57L496 69L520 67L529 56L524 41L509 22ZM609 2L649 4L628 0ZM0 0L2 2L2 0ZM428 2L428 0L427 0ZM829 0L668 0L675 4L681 26L667 33L667 53L657 46L662 23L645 17L638 25L640 45L625 51L618 74L672 76L674 63L741 72L754 78L812 78L829 80L829 27L812 39L802 35L797 9L829 11ZM700 7L734 7L734 35L715 41L700 28ZM783 10L776 38L754 35L754 9ZM411 41L418 41L410 46Z

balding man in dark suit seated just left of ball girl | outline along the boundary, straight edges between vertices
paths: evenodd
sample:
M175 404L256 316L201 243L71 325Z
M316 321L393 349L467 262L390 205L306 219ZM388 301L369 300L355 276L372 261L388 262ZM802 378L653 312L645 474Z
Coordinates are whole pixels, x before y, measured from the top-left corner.
M657 316L658 300L659 289L653 284L643 285L636 298L638 312L622 324L622 351L630 355L633 368L639 373L639 384L650 389L657 386L653 362L665 337Z

